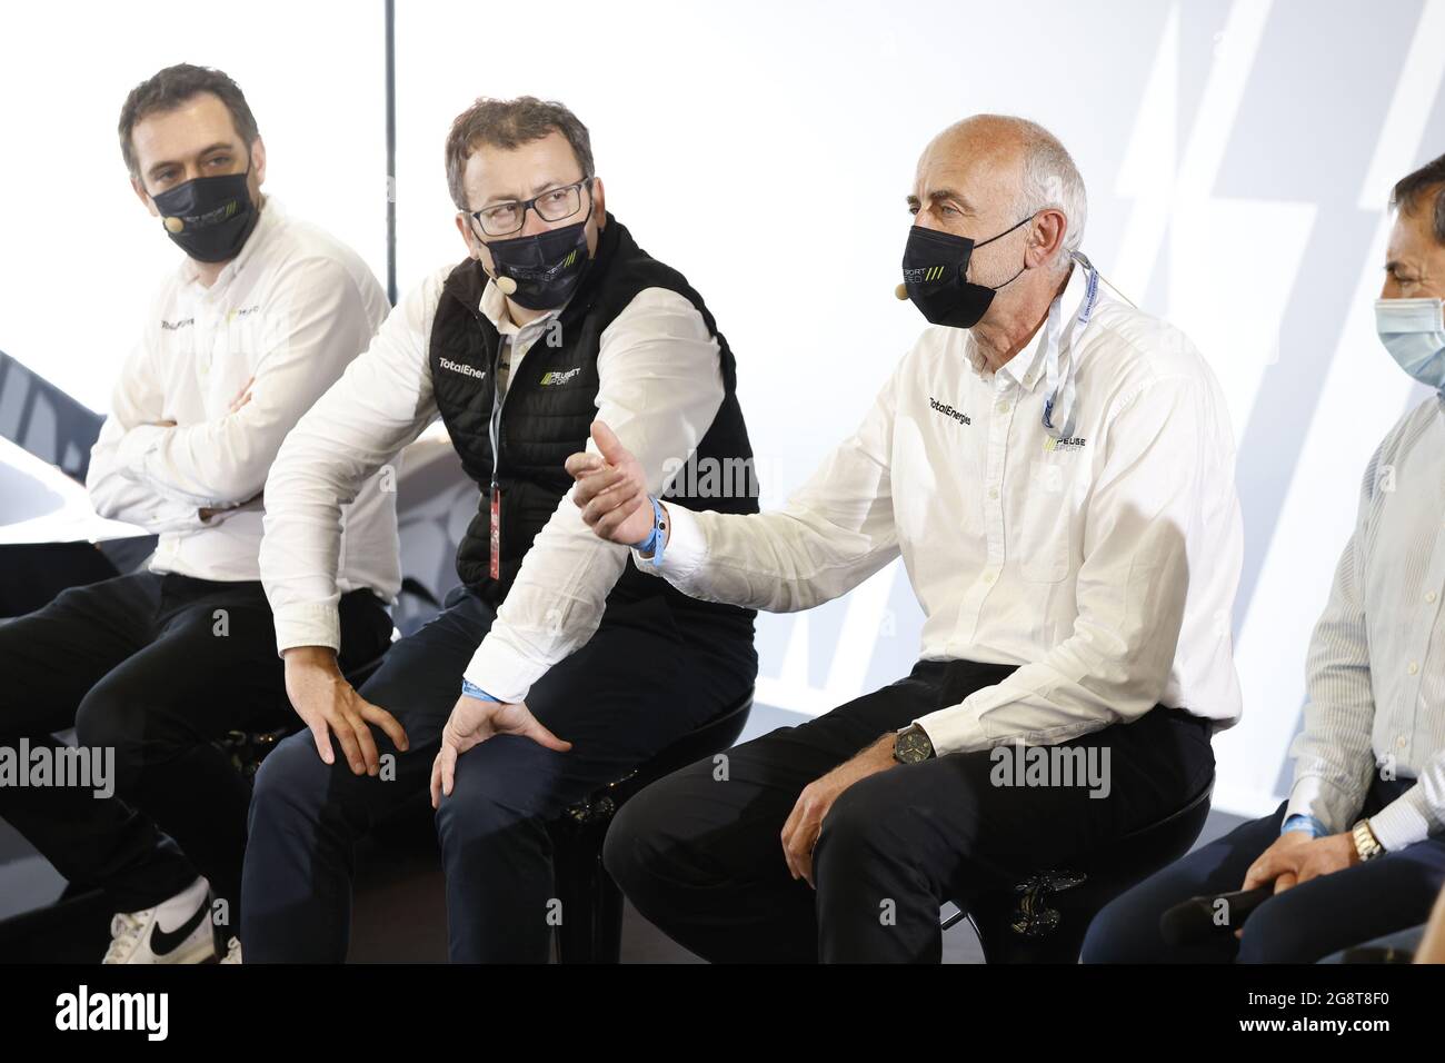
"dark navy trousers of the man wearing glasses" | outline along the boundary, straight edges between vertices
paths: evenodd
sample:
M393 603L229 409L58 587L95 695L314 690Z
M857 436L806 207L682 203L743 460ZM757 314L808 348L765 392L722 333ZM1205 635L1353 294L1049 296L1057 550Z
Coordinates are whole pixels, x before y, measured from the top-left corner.
M458 587L425 628L392 646L361 696L400 720L409 751L373 727L394 775L328 767L309 733L282 742L256 777L241 946L247 963L341 962L355 842L425 801L441 730L496 613ZM499 735L457 762L436 811L454 962L546 962L558 911L546 821L717 717L757 675L744 618L673 613L660 597L608 606L591 641L532 686L526 703L565 754ZM406 918L400 913L397 918Z

